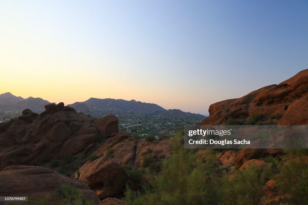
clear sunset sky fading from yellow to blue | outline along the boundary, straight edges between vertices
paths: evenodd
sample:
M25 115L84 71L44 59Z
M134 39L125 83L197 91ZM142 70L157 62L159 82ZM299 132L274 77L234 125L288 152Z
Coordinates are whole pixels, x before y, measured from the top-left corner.
M209 105L308 68L308 1L0 0L0 93Z

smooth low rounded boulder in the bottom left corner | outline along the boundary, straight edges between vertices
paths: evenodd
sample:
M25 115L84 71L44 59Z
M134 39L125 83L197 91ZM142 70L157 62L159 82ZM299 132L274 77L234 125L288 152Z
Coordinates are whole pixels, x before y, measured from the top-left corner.
M99 204L100 200L86 184L44 167L11 166L0 171L0 193L5 196L39 196L50 195L48 204L57 204L53 193L64 184L76 187L84 199ZM1 202L0 202L1 204Z

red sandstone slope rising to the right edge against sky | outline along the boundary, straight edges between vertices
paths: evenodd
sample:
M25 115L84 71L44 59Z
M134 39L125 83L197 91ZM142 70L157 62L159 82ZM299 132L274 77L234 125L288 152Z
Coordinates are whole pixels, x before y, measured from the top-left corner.
M248 117L256 112L262 118L280 113L280 125L308 124L308 69L278 84L255 90L241 98L216 102L209 107L209 117L200 125L224 123L229 117Z

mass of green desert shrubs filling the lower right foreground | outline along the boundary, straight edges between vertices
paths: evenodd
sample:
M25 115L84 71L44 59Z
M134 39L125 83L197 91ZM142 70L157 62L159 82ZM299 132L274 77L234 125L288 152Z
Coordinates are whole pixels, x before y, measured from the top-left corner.
M253 117L254 122L258 120ZM302 150L284 150L283 155L263 158L264 166L252 164L238 169L217 166L217 153L205 150L200 160L196 149L184 149L183 132L176 134L172 155L161 162L161 172L150 169L152 157L145 156L143 170L129 167L134 183L147 176L150 182L142 188L127 186L128 204L266 204L263 187L276 182L275 193L285 204L304 204L307 200L308 154ZM126 169L127 170L127 169ZM291 185L291 186L290 186ZM277 204L277 200L267 204Z

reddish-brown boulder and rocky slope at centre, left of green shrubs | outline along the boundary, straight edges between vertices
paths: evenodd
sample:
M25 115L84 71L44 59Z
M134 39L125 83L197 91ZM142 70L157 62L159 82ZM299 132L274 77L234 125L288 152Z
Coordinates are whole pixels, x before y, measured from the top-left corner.
M113 197L123 191L129 181L122 166L131 164L141 166L144 154L151 150L151 155L163 154L168 157L171 153L170 139L159 140L159 143L150 143L145 140L132 140L131 135L120 132L108 138L93 153L100 156L88 161L79 168L79 180L96 192L101 199ZM75 173L78 177L78 173Z

